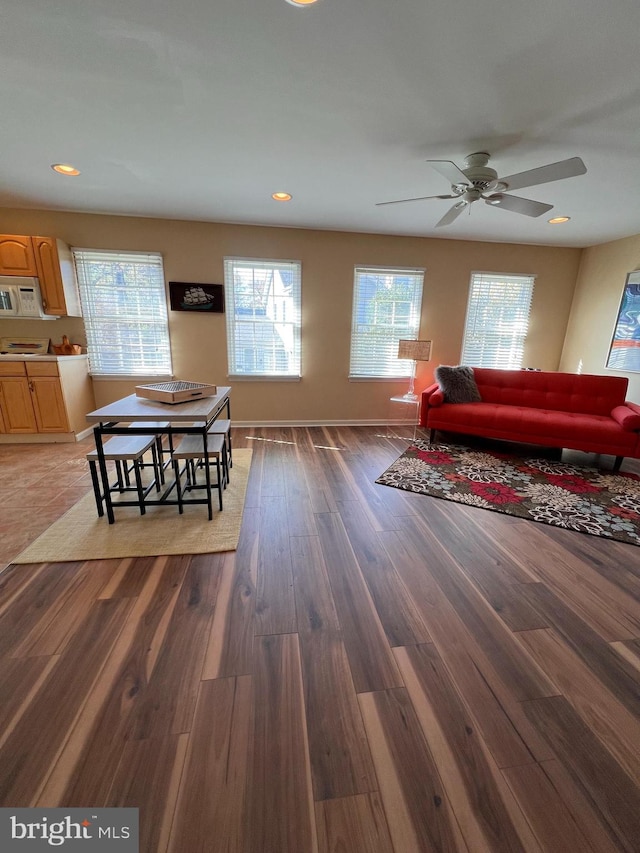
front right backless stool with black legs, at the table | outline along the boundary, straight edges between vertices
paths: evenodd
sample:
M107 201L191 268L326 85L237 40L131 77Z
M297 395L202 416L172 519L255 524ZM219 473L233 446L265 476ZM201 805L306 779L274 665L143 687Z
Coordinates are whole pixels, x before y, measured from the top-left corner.
M213 518L213 507L211 505L211 489L214 488L218 492L218 503L222 509L222 490L227 485L227 465L226 465L227 449L224 440L224 435L216 434L207 436L207 453L205 456L203 439L201 435L185 435L180 441L180 444L173 450L171 459L173 462L173 471L176 479L176 493L178 497L178 512L183 513L184 504L189 503L206 503L209 510L209 521ZM216 463L216 482L211 482L210 466L212 462ZM180 462L184 462L182 470L180 470ZM202 462L205 471L205 485L199 485L196 479L196 470L199 463ZM198 465L196 464L198 463ZM184 485L181 477L185 475ZM204 489L206 498L201 500L184 500L184 495L194 489Z

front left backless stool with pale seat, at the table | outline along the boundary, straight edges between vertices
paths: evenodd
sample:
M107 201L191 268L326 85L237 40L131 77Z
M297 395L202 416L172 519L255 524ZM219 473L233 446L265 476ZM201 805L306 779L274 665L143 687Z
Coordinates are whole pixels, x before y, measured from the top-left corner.
M90 453L87 453L98 515L104 515L103 504L107 490L118 493L135 491L138 495L140 515L144 515L146 512L144 505L146 495L149 494L154 485L156 490L160 491L160 466L158 463L156 437L153 435L115 435L104 443L102 449L105 461L115 462L116 481L113 485L107 481L102 484L101 488L97 470L98 451L92 450ZM143 466L142 458L147 450L151 450L154 477L153 481L145 487L142 484L141 468ZM129 478L131 471L133 471L135 477L135 486L131 485Z

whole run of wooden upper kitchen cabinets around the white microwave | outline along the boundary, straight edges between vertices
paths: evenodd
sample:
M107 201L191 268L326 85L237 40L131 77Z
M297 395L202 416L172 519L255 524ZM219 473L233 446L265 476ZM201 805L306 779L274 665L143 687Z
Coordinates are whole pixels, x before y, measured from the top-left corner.
M62 240L0 234L0 275L37 276L45 313L82 316L73 256Z

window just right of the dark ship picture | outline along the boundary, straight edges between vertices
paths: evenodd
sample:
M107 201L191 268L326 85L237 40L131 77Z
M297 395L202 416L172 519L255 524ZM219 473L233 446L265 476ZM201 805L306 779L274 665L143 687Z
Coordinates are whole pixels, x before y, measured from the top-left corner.
M300 376L299 261L225 258L231 376Z

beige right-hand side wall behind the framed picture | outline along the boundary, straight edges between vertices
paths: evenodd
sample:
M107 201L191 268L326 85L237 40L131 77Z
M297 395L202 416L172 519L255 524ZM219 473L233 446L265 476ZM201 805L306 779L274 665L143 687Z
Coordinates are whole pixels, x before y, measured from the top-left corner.
M560 369L627 376L640 402L640 374L605 367L627 274L640 269L640 234L584 249Z

